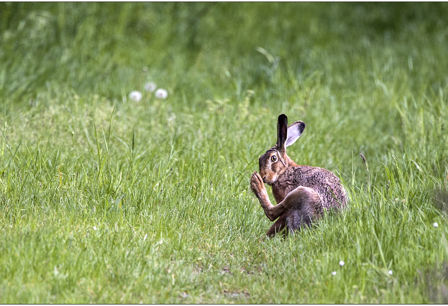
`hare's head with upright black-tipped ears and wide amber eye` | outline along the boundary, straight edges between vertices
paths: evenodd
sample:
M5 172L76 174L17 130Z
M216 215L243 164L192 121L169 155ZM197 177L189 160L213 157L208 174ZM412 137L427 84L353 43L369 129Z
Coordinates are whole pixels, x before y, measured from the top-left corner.
M277 143L259 159L260 175L263 182L274 183L277 178L295 163L286 155L286 147L296 142L305 129L305 123L296 121L288 126L288 117L281 114L277 122Z

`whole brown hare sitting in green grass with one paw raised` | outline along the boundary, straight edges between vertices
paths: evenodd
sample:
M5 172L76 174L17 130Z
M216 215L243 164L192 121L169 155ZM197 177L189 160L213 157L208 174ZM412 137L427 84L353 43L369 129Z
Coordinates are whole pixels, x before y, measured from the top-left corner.
M277 122L277 143L259 158L260 173L250 178L250 189L255 193L264 213L271 221L279 218L267 231L274 236L286 228L293 232L300 226L319 219L324 209L347 205L347 194L340 180L323 168L297 165L288 155L286 147L300 137L305 123L297 121L288 126L288 118L281 114ZM277 205L267 195L267 183Z

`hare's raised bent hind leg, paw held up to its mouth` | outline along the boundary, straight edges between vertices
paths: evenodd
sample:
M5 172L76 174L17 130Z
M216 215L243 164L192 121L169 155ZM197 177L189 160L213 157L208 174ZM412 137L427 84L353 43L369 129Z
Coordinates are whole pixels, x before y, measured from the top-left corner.
M279 204L272 205L263 179L257 172L254 172L250 178L250 188L260 201L267 219L271 221L274 221L288 210L304 210L304 212L306 211L308 214L314 215L314 211L319 210L321 207L319 195L313 189L303 186L299 186L289 192Z

